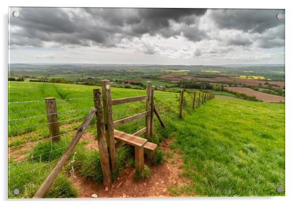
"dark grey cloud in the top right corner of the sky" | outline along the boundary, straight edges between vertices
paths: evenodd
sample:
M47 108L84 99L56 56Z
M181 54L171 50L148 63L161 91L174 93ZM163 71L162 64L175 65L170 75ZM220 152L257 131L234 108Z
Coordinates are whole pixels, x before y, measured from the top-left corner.
M222 29L241 30L250 33L263 33L267 29L283 25L283 19L276 14L284 14L283 9L214 9L210 17Z

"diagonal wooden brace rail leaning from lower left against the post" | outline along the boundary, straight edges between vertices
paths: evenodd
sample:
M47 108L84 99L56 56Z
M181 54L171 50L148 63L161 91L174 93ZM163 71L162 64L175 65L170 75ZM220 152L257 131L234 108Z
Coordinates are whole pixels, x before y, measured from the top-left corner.
M53 181L57 177L59 171L61 171L62 167L64 166L65 162L69 159L71 152L73 151L75 145L78 143L80 137L84 133L84 131L87 129L89 126L91 119L93 118L94 114L96 113L97 109L96 108L91 108L89 114L83 121L83 123L80 125L79 129L77 130L75 136L71 140L70 144L64 151L63 155L60 157L58 162L56 163L55 167L52 169L52 171L49 172L39 189L34 195L35 198L43 198L45 194L47 193L48 189L52 185Z

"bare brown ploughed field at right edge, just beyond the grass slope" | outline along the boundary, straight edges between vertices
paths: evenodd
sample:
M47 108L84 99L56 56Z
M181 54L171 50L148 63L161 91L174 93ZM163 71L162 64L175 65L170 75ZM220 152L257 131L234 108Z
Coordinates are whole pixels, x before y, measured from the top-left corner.
M282 96L262 93L259 91L255 91L251 88L244 88L244 87L225 87L225 88L230 91L235 91L237 93L244 93L248 96L255 96L258 100L262 100L263 102L285 102L285 98Z

